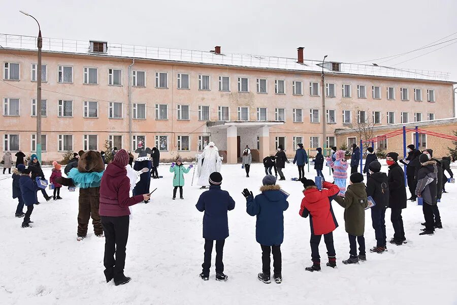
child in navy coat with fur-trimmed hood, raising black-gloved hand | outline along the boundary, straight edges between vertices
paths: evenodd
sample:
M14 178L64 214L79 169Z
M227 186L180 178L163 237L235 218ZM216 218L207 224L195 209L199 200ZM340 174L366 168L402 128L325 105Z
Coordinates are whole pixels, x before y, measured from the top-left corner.
M255 223L255 239L262 248L262 272L257 278L270 283L270 252L273 253L273 277L277 284L282 282L281 275L281 243L284 239L283 212L289 207L287 197L276 185L276 177L266 175L262 180L263 186L257 196L252 195L248 189L244 189L246 198L246 212L250 216L257 216Z

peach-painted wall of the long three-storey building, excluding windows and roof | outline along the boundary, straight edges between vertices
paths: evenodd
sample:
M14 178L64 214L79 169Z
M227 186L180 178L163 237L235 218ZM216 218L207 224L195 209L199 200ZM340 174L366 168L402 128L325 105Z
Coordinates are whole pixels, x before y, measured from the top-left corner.
M4 98L20 99L20 116L1 117L0 133L19 134L19 148L26 154L31 150L31 135L36 131L36 118L30 116L31 100L36 97L36 82L30 81L31 64L36 63L36 54L32 52L0 51L2 63L20 63L20 80L0 82L0 97L2 105ZM47 65L47 82L43 83L43 99L47 100L47 116L43 117L42 130L47 136L47 151L43 153L43 160L50 161L61 158L58 151L58 135L73 135L73 150L83 149L84 135L97 135L97 149L104 149L105 140L110 135L122 135L122 146L129 148L128 143L128 65L131 59L115 57L82 56L76 54L43 53L43 65ZM73 67L73 83L62 84L57 82L57 66L69 65ZM98 84L83 84L84 67L96 67L98 69ZM122 70L122 85L108 85L108 69ZM148 147L155 146L155 136L168 136L168 150L162 151L163 158L171 158L176 155L177 136L189 136L189 151L178 151L185 158L195 155L199 135L208 135L206 121L198 119L198 106L210 106L210 120L218 119L218 106L230 108L230 120L237 120L237 107L249 107L249 119L256 120L257 107L268 108L268 120L275 119L275 108L285 108L285 123L282 126L270 128L270 153L274 153L275 137L286 137L286 153L293 156L294 147L292 137L303 137L305 147L310 146L310 137L319 136L318 146L322 146L321 123L310 123L310 109L321 108L320 75L309 72L298 73L291 71L273 71L259 69L243 69L237 67L218 67L195 64L170 64L166 62L153 62L136 60L132 68L146 72L146 86L132 87L132 103L146 104L146 119L132 120L132 135L145 136L145 144ZM155 73L168 73L168 88L155 88ZM190 88L177 88L177 73L185 73L190 76ZM2 71L3 74L3 71ZM210 90L199 90L199 75L210 75ZM230 92L218 90L218 77L230 76ZM238 92L238 77L248 77L249 92ZM256 92L256 79L267 79L267 94ZM275 94L275 80L285 80L285 94ZM367 111L371 116L372 111L381 111L382 122L386 124L386 111L396 112L396 123L400 122L400 112L408 111L410 119L413 118L413 109L420 109L423 116L428 112L435 114L435 118L449 117L448 109L452 107L452 84L450 82L418 81L406 79L388 79L380 77L326 75L326 82L336 84L336 97L327 98L327 109L336 111L336 123L327 125L328 136L334 136L335 129L347 128L342 122L342 111L352 111L352 121L356 120L357 109ZM292 94L292 81L302 82L303 95ZM309 83L319 83L319 96L310 96ZM351 98L342 98L342 85L351 85ZM367 98L357 98L357 85L363 84L367 88ZM374 100L371 95L372 85L381 87L381 99ZM394 86L396 99L386 99L386 87ZM400 101L400 88L409 88L409 101ZM423 102L413 99L414 88L422 89ZM435 90L436 102L427 102L427 89ZM58 117L58 100L73 101L73 117ZM98 102L98 117L84 118L84 101ZM122 102L122 118L108 118L109 102ZM155 116L155 104L168 105L168 119L157 120ZM177 120L177 106L189 105L189 120ZM294 123L292 118L293 109L303 110L303 123ZM3 114L3 113L2 113ZM425 118L424 118L425 119ZM321 113L319 113L321 121ZM242 129L239 129L242 134ZM245 131L252 139L245 142L256 147L254 133ZM218 136L212 134L216 139ZM216 142L219 149L226 146L226 138L220 134L220 142ZM340 145L337 139L337 145ZM6 147L2 143L2 149ZM225 147L226 149L226 147ZM134 147L135 150L135 147ZM260 156L262 157L262 156Z

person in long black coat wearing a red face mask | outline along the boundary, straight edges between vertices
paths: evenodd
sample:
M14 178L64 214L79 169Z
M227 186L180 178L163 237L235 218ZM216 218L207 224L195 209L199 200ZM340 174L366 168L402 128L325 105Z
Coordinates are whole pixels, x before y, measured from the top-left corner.
M394 227L394 238L390 243L401 246L406 241L405 229L403 228L402 209L406 208L405 173L397 163L398 154L391 152L386 155L389 166L387 181L389 185L389 208L390 221Z

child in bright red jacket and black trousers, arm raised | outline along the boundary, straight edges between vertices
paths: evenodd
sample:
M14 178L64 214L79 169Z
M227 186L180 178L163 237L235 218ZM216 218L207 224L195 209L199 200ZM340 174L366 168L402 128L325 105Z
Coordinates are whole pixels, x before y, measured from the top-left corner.
M311 227L311 258L313 265L305 268L307 271L320 271L320 256L319 243L322 235L324 236L325 246L327 246L327 254L329 262L327 266L336 267L336 253L333 246L333 231L338 227L335 215L333 214L332 196L335 196L340 191L337 185L329 182L323 182L323 189L319 191L313 180L303 178L303 186L305 197L302 200L300 207L300 216L307 217L309 215L309 224Z

